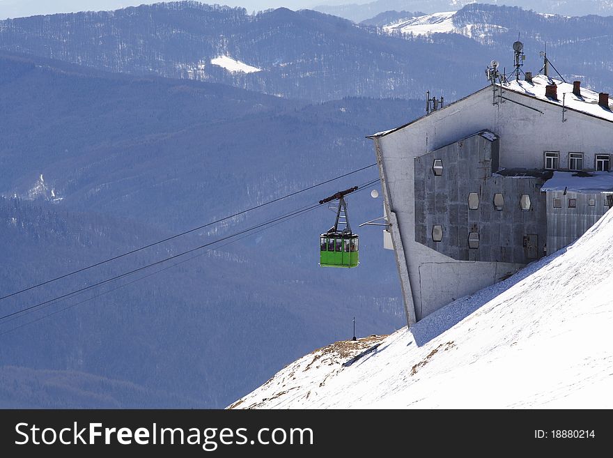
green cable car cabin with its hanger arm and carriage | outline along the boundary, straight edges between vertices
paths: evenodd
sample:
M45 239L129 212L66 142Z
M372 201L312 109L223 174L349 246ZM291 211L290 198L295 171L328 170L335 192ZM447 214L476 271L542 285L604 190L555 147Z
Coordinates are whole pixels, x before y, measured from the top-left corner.
M345 191L337 192L333 196L320 200L320 204L339 199L339 206L336 208L336 221L329 231L320 235L320 261L322 267L357 267L359 264L359 245L357 234L351 232L349 216L347 213L347 203L344 199L346 194L357 190L350 188ZM344 224L345 229L339 230L339 224Z

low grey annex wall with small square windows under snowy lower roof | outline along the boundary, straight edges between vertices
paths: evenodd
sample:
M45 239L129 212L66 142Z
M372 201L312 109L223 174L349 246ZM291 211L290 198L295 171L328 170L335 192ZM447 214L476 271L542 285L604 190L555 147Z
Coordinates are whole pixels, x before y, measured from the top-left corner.
M561 208L554 208L554 199L560 199ZM575 208L568 206L568 200L575 199ZM593 199L594 205L589 205ZM587 229L600 220L609 206L606 194L587 192L547 192L547 251L556 252L580 238Z

